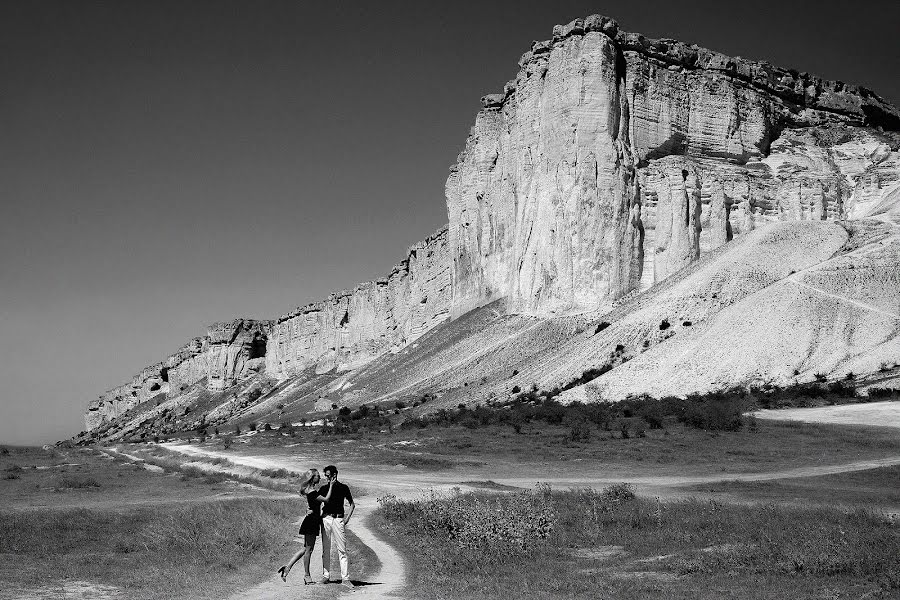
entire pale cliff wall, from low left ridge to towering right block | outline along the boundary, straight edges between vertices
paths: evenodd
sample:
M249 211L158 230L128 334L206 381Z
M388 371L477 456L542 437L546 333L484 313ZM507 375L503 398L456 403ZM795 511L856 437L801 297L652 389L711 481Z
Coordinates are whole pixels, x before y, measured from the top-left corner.
M386 278L273 322L211 326L92 403L88 429L263 363L278 380L357 369L501 298L525 315L602 312L772 221L900 219L886 203L900 113L865 88L597 15L557 25L519 67L482 98L446 228Z

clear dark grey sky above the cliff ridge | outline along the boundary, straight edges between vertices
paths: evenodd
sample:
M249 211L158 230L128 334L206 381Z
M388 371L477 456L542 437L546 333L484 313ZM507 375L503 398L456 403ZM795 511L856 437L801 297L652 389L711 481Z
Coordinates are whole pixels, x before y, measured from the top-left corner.
M900 3L0 3L0 443L209 323L387 274L486 93L593 13L900 103Z

